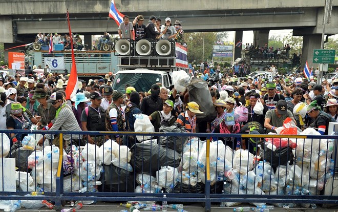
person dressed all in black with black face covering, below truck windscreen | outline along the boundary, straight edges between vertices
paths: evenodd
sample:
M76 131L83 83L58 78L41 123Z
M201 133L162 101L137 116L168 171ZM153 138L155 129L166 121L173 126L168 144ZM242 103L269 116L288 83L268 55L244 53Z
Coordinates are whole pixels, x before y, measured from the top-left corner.
M151 95L142 99L141 111L143 114L150 116L155 111L161 111L163 108L162 99L159 97L160 87L153 84L151 87Z

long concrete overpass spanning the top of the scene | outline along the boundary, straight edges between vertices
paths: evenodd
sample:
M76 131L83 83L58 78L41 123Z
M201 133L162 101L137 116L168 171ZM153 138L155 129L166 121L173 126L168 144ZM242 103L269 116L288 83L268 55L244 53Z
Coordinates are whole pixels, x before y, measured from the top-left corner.
M71 17L72 32L85 35L107 29L117 32L114 20L107 21L110 0L2 0L0 2L0 43L5 48L15 43L30 43L38 31L68 33L66 9ZM293 29L304 36L303 57L312 61L312 49L320 48L325 0L115 0L117 9L133 19L138 14L184 20L185 32L254 30L255 45L267 43L269 30ZM338 2L325 33L338 33Z

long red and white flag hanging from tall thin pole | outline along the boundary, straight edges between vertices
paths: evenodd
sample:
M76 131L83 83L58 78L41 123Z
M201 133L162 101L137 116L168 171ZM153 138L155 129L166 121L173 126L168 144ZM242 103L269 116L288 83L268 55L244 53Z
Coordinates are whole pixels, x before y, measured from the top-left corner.
M69 36L71 36L70 41L71 41L71 48L72 48L72 69L71 69L71 73L70 73L67 88L66 88L66 99L70 100L73 96L75 96L78 90L77 84L78 84L79 79L77 78L76 63L75 63L74 48L73 48L73 37L72 37L72 31L70 28L68 10L67 10L67 20L68 20Z

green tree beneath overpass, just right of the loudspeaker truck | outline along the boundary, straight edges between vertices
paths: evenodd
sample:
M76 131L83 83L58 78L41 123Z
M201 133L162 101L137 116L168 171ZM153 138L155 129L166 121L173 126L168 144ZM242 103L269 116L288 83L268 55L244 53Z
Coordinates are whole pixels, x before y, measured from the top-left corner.
M204 37L204 61L212 58L213 46L216 41L216 32L195 32L185 33L185 40L188 46L188 60L197 63L203 57L203 37Z

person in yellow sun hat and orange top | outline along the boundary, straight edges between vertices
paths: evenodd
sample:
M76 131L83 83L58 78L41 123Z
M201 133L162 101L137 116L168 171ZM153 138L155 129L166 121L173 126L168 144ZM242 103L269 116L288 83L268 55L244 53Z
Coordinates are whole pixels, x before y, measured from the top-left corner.
M185 106L186 111L181 113L176 122L184 126L186 132L196 133L196 114L202 114L200 106L195 102L188 102Z

